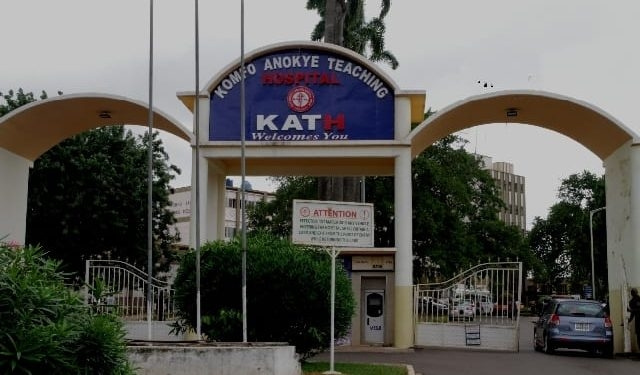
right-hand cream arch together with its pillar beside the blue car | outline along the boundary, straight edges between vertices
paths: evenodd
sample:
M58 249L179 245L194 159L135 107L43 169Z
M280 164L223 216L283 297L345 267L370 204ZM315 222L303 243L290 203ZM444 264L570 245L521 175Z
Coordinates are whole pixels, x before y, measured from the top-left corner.
M563 134L605 166L609 301L615 350L622 351L626 292L640 286L640 147L638 135L589 103L542 91L507 90L473 96L438 111L408 136L412 156L440 138L491 123L527 124Z

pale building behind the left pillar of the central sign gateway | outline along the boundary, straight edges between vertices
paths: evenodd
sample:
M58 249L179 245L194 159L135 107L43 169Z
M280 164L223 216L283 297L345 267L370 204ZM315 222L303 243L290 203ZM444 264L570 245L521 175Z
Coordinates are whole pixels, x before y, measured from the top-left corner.
M224 237L226 239L233 238L238 232L238 228L242 227L242 191L239 187L227 184L225 192L225 224ZM269 192L245 189L244 201L247 208L255 205L262 200L270 201L274 199L274 195ZM170 195L171 211L173 211L177 222L174 230L180 234L180 241L177 243L180 247L189 246L189 230L191 227L191 186L185 186L174 189L174 193Z

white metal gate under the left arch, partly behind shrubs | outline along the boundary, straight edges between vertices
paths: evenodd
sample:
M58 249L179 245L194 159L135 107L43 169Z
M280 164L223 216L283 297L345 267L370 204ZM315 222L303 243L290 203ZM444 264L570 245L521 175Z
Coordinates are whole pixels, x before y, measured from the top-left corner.
M118 260L88 260L85 270L85 302L97 311L113 312L124 320L147 319L147 288L151 288L151 319L175 318L175 291L166 281Z

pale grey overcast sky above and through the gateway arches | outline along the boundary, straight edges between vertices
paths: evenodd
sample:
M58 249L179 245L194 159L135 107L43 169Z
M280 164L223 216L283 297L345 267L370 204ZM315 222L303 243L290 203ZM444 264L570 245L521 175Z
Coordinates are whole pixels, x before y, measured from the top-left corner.
M200 0L200 86L240 54L240 1ZM318 16L303 0L245 0L245 51L309 40ZM369 0L374 11L379 1ZM176 92L193 90L194 1L154 2L154 105L191 127ZM386 43L400 62L383 69L442 109L472 95L536 89L595 105L640 133L637 0L394 0ZM101 92L148 102L149 1L0 0L0 91ZM488 82L489 86L478 84ZM561 179L602 161L582 145L532 126L467 129L468 148L514 164L527 179L527 216L546 217ZM189 184L190 150L165 136ZM254 188L268 188L249 178ZM237 183L237 181L236 181Z

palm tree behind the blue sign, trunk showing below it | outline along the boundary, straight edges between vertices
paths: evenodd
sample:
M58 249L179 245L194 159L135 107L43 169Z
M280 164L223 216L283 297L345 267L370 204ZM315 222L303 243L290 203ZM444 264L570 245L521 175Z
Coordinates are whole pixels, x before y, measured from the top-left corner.
M371 61L386 62L396 69L398 61L384 45L384 18L389 13L391 1L383 0L380 14L369 22L365 22L364 3L363 0L307 0L307 9L315 9L321 18L311 39L324 39L326 43L344 46ZM357 202L361 178L364 176L320 177L318 199Z

